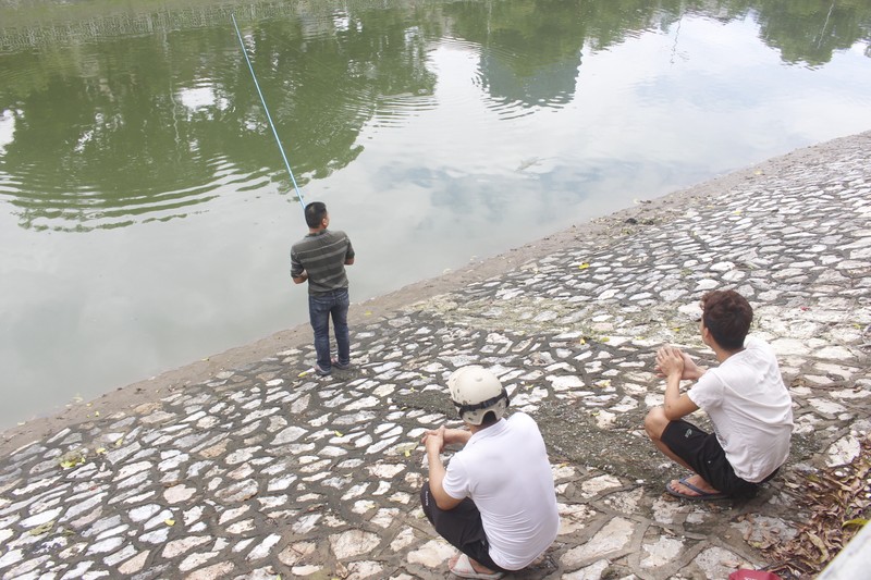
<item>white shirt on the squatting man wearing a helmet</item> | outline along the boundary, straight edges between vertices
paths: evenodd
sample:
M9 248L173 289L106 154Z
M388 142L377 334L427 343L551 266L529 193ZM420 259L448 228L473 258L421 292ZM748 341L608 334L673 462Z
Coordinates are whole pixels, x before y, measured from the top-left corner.
M506 570L525 568L556 539L551 464L538 425L524 412L473 434L447 465L443 486L455 499L475 502L490 557Z

